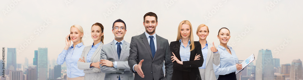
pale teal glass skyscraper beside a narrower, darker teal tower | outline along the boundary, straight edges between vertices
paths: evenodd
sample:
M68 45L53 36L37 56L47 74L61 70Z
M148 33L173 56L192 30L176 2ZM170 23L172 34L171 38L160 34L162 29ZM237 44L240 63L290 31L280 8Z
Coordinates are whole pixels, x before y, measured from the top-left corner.
M47 80L47 48L38 48L38 80Z

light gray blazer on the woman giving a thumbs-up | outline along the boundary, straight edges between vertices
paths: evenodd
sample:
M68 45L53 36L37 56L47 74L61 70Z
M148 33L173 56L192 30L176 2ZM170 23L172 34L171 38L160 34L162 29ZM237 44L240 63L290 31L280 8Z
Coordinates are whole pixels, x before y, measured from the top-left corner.
M213 46L212 43L208 44L207 58L205 63L205 79L202 80L217 80L213 68L213 64L218 66L220 64L220 52L214 53L210 50L210 47ZM201 75L202 76L202 75Z

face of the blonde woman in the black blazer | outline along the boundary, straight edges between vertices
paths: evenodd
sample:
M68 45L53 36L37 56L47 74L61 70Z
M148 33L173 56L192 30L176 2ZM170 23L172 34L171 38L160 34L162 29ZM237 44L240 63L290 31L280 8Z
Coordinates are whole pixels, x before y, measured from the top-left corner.
M181 31L180 31L181 38L188 39L188 37L190 36L190 31L191 31L191 28L188 24L182 24Z

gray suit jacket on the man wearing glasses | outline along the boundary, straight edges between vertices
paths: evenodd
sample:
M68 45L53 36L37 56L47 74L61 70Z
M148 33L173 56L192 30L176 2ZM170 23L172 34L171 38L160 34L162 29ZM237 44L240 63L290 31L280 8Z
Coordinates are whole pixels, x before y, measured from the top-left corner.
M108 67L108 66L101 66L101 72L105 73L104 80L118 80L120 76L121 80L134 80L134 73L128 66L128 56L129 56L129 45L130 43L124 41L121 48L120 59L118 58L117 50L116 50L116 43L114 40L111 43L105 44L101 49L101 57L100 59L106 59L109 61L116 61L117 68Z

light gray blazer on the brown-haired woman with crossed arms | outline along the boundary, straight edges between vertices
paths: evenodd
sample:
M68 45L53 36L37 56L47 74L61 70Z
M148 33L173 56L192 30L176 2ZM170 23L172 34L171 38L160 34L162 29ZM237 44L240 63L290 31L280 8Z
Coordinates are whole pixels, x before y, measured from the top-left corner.
M103 45L104 44L102 42L99 44L98 48L91 57L91 62L86 61L86 56L89 50L92 48L92 45L84 47L80 58L83 59L84 57L85 62L77 62L78 69L83 70L83 72L85 73L84 80L100 80L104 78L104 76L101 75L104 75L105 73L101 72L99 68L90 68L92 62L100 62L100 52Z

